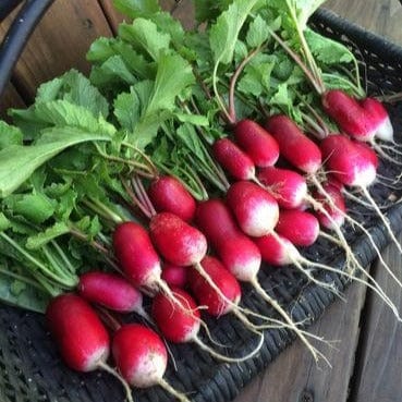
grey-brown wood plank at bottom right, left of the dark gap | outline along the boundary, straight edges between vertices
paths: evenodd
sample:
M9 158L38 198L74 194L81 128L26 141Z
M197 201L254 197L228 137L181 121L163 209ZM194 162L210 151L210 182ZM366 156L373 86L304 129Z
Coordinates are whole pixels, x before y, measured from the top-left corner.
M317 345L332 368L324 362L317 367L309 352L296 341L248 385L234 402L345 402L365 293L364 287L352 284L345 291L348 301L337 301L310 328L313 333L326 340L339 341L333 344L336 349Z

